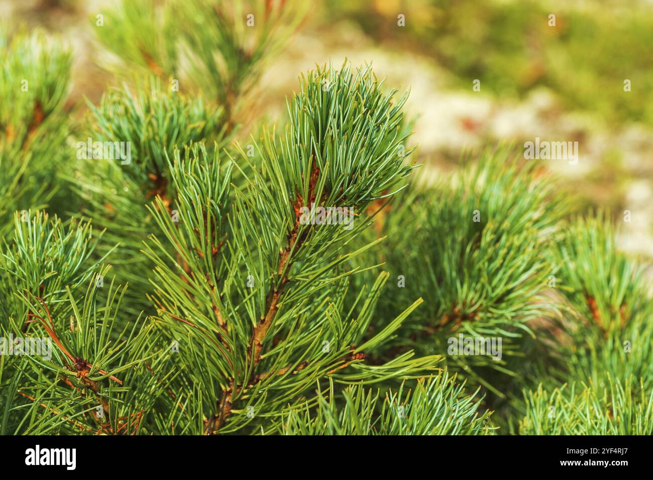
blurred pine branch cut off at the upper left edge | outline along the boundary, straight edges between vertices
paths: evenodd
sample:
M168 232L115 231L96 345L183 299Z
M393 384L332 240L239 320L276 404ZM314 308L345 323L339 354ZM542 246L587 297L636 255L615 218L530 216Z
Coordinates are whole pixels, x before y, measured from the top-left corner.
M0 27L0 236L16 210L39 210L56 199L63 212L60 165L70 122L64 112L71 54L42 31L9 35ZM56 208L56 210L55 210Z

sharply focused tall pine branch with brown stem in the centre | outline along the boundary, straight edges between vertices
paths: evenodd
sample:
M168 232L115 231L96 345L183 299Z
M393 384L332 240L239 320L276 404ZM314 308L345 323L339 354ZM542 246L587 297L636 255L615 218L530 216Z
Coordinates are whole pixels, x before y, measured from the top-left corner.
M334 84L326 96L321 93L323 78ZM351 103L353 91L358 91L360 103ZM379 276L370 293L363 289L358 295L362 303L357 300L347 313L342 303L345 279L355 270L339 270L374 246L342 251L369 221L357 217L360 222L352 229L304 221L304 208L315 208L311 204L346 206L349 200L354 210L364 211L375 192L387 191L408 174L410 168L394 148L402 141L395 132L401 114L389 109L389 102L370 69L357 76L349 67L342 72L320 69L317 76L311 73L302 80L302 91L289 107L297 123L289 125L286 140L279 145L274 136L264 136L261 163L250 163L244 152L242 164L220 159L215 150L211 158L203 146L187 150L183 160L182 152L176 153L169 170L178 191L180 221L171 221L162 199L150 209L174 253L166 253L165 244L152 236L146 254L156 264L157 321L170 338L190 335L191 343L177 358L189 383L202 385L207 398L215 395L203 433L244 428L253 417L243 415L239 406L253 408L263 421L296 402L320 378L374 383L414 376L437 360L413 359L407 353L363 366L363 350L386 342L421 300L364 339L387 275ZM322 103L332 105L332 118L321 119L326 127L316 130L321 136L304 153L301 132L315 125L306 112L317 112ZM380 118L386 118L381 127ZM357 127L343 135L336 121ZM359 141L357 129L373 132L366 146L370 154L336 161L336 150L328 145L338 142L341 152L351 148L357 155L353 144L349 146ZM232 168L240 173L241 186L231 184ZM344 170L339 173L338 168ZM368 173L352 174L364 170ZM215 255L212 238L227 239ZM321 351L325 335L335 335L335 343Z

